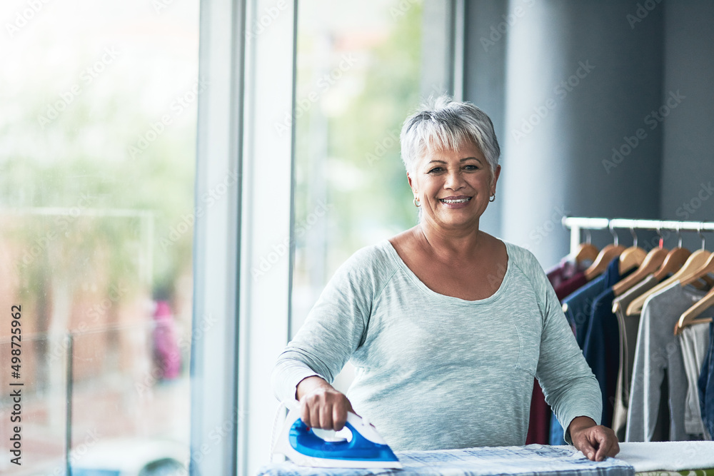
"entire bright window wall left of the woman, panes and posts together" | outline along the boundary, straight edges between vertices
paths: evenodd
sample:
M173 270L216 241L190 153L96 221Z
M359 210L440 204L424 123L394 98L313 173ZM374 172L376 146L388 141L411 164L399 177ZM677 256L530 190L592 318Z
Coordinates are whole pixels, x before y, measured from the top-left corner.
M268 461L274 359L416 223L398 133L448 89L451 4L0 6L2 474Z

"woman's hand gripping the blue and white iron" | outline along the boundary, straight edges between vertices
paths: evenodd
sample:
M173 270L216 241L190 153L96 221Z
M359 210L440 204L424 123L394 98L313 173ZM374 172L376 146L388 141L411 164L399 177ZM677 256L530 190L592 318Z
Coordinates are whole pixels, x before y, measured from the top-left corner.
M345 426L347 412L354 412L343 393L316 375L303 378L296 390L300 417L308 427L339 431Z

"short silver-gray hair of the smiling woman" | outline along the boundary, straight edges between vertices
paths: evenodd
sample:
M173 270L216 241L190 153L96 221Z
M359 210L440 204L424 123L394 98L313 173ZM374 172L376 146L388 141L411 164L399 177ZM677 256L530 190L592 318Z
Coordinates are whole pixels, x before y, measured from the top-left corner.
M426 152L456 150L468 141L486 157L493 180L501 156L491 118L472 103L454 101L446 95L429 98L406 118L399 141L407 173L413 173Z

